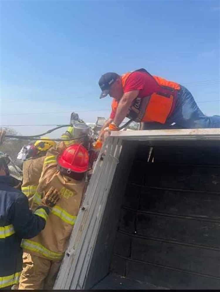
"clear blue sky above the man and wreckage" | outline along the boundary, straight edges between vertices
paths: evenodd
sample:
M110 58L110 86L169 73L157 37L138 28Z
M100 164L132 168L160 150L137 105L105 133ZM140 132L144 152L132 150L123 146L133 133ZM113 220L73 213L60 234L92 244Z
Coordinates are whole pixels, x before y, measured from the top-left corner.
M66 124L71 111L87 122L108 117L99 77L140 67L220 114L211 102L219 99L219 15L219 1L1 1L1 125Z

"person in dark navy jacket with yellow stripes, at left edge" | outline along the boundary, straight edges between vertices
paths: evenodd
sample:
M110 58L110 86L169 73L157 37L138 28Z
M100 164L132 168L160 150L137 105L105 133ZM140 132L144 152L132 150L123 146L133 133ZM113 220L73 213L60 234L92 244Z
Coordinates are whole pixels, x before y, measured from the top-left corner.
M50 193L33 214L28 198L13 188L9 159L0 152L0 289L19 283L22 271L22 238L32 238L44 229L50 208L59 200Z

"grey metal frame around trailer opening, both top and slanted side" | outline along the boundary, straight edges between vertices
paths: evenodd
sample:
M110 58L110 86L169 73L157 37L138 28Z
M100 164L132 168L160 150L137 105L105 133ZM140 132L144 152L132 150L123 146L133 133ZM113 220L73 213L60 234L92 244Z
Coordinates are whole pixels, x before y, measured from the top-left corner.
M220 141L220 128L180 130L115 131L106 139L97 159L84 202L79 210L53 289L82 289L106 201L124 140L132 141ZM104 161L101 157L105 152Z

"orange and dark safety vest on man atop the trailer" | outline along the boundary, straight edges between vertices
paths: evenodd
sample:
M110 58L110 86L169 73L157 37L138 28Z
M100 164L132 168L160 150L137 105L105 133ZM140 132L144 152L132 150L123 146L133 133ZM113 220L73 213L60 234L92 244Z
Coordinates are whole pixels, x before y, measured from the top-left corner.
M145 69L139 69L134 72L145 72L150 75ZM122 87L124 88L126 80L132 72L128 72L122 75ZM136 97L133 101L129 113L126 117L133 119L137 122L159 122L165 124L167 117L169 116L173 101L177 97L177 93L180 90L180 85L173 81L165 80L158 76L150 75L155 82L160 85L160 91L152 92L150 96ZM118 107L118 101L113 99L112 109L116 112Z

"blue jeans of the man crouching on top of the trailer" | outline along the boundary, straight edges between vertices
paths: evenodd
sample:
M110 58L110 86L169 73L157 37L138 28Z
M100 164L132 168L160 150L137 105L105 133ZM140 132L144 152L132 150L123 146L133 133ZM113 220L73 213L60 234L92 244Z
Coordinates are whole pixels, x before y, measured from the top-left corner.
M175 123L174 126L171 126ZM177 95L177 102L174 112L167 119L165 124L157 122L144 123L145 130L153 129L199 129L199 128L220 128L220 116L205 116L197 106L191 92L181 86Z

